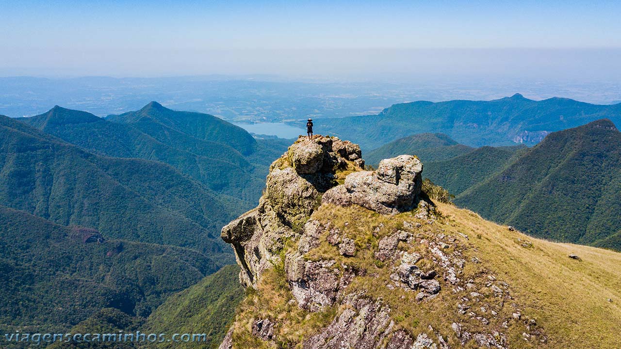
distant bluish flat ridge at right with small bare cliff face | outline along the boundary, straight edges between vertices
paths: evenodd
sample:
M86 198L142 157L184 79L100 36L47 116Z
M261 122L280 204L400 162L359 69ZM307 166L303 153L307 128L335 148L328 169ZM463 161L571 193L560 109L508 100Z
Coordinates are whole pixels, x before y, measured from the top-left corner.
M533 145L550 132L604 117L621 123L621 104L600 106L556 97L532 101L515 94L494 101L395 104L378 115L324 120L321 132L351 139L365 150L423 132L441 132L474 147Z

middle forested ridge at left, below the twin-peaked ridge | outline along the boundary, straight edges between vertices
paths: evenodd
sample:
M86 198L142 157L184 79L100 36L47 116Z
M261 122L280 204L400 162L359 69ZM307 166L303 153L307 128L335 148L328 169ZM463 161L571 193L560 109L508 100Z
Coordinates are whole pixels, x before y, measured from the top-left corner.
M168 165L107 158L0 116L0 202L109 238L222 253L214 237L240 205Z

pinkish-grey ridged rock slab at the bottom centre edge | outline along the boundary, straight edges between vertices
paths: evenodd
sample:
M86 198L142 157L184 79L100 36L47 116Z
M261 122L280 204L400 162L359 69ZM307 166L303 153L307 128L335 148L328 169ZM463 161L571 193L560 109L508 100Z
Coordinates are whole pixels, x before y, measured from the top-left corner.
M390 318L391 309L383 302L353 294L345 297L343 304L347 305L347 309L325 329L304 341L302 348L374 349L388 338L394 322Z

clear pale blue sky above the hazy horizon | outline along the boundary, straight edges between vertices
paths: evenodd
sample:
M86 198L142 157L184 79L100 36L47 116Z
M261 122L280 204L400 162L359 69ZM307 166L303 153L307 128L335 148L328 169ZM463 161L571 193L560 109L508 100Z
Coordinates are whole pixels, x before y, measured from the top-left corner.
M621 77L619 1L6 1L0 76Z

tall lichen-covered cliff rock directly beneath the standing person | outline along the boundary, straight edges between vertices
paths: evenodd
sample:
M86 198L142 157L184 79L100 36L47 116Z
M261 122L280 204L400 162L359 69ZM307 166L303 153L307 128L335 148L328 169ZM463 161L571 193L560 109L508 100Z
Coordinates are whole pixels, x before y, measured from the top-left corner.
M299 237L325 191L337 186L338 171L363 166L358 145L322 136L301 137L274 161L259 206L222 228L222 240L233 246L242 268L240 282L256 286L284 242Z

